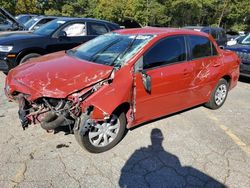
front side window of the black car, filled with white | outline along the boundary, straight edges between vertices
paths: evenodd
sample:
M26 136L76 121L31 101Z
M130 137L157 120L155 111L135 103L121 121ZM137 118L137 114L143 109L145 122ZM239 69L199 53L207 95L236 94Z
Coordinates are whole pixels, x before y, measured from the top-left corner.
M85 36L86 24L85 23L73 23L66 26L63 31L66 32L69 37Z

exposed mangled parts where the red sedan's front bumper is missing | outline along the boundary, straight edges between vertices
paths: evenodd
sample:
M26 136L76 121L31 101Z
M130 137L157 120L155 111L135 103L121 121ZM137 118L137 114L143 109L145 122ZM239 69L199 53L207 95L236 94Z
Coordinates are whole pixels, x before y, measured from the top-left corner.
M41 98L34 102L27 100L24 94L17 95L18 115L23 129L30 124L41 124L45 130L74 123L74 117L80 114L79 105L64 99Z

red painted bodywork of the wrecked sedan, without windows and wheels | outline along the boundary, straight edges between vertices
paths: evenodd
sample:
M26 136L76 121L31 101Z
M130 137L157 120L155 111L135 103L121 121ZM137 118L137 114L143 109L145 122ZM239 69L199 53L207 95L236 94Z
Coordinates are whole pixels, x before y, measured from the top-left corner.
M155 37L125 66L114 73L111 83L104 83L81 102L84 111L94 106L93 117L111 115L120 105L127 105L128 127L205 103L222 77L230 77L230 88L239 78L239 59L233 52L219 49L214 39L202 32L168 28L124 29L120 34L153 34ZM216 46L218 55L147 71L152 78L152 92L147 93L141 73L134 73L139 58L158 40L173 35L199 35L208 37ZM31 101L40 97L74 100L76 91L108 78L112 67L82 61L59 52L32 60L12 70L6 80L14 91L30 95Z

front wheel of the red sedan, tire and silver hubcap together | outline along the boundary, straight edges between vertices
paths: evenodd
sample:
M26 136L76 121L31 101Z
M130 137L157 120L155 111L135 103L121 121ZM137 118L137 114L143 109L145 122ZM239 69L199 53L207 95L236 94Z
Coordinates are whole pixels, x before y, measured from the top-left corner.
M111 115L111 118L109 120L105 122L98 122L94 126L93 123L91 123L91 119L89 118L89 116L82 115L78 119L78 121L76 121L76 124L77 123L79 126L75 125L75 127L79 128L74 128L74 135L76 141L82 148L86 149L91 153L101 153L113 148L122 140L123 136L126 133L126 117L124 113L121 113L119 115L113 114ZM90 125L88 129L85 129L86 124ZM98 134L98 132L100 133ZM113 135L113 138L110 134ZM105 135L108 144L104 143ZM100 139L99 144L97 144L98 139Z

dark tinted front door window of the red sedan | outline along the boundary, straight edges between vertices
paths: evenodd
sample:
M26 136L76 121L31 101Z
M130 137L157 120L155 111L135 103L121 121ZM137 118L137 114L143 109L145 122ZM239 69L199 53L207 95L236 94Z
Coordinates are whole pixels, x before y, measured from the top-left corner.
M187 59L184 36L168 37L156 43L143 57L143 68L166 65Z

